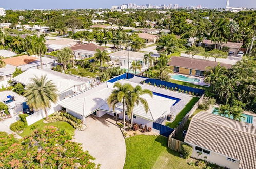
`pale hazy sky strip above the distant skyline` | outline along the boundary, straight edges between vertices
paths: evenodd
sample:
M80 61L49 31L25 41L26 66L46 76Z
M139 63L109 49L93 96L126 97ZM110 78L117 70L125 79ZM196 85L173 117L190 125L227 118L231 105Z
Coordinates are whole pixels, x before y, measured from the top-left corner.
M75 8L111 8L112 5L135 3L137 5L178 4L179 6L196 6L224 8L226 0L0 0L0 7L5 9L75 9ZM256 0L230 0L231 7L256 8Z

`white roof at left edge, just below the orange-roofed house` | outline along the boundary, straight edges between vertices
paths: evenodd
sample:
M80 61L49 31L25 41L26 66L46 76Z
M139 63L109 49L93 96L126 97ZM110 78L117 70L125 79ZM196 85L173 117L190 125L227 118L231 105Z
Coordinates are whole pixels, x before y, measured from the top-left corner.
M7 86L7 81L11 79L12 73L16 67L13 65L6 64L3 68L0 68L0 87Z

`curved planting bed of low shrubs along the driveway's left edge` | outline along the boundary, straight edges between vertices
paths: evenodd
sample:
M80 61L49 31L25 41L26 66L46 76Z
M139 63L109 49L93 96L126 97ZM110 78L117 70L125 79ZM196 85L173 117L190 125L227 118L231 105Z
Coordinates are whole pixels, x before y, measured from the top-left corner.
M82 121L67 112L55 112L52 116L49 117L49 122L56 121L65 121L72 125L75 129L81 128Z

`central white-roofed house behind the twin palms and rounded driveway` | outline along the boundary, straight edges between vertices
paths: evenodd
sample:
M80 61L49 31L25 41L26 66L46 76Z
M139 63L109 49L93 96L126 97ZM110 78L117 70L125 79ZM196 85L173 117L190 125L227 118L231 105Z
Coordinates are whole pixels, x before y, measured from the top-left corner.
M128 80L119 80L120 83L130 83L132 86L138 85ZM85 92L74 95L70 98L58 102L62 107L66 108L66 111L80 119L84 119L86 123L86 117L93 114L97 117L101 117L104 114L110 114L112 116L118 116L123 118L123 105L118 104L115 108L115 111L112 108L109 108L107 104L107 98L111 95L114 83L104 82L101 85L93 87ZM146 88L146 85L140 85L143 89ZM158 89L158 88L156 88ZM164 90L164 89L161 89ZM168 99L165 97L153 95L151 98L148 95L142 95L141 97L145 98L149 105L148 113L145 112L142 104L135 105L134 107L134 123L147 125L152 128L153 122L159 119L162 116L166 116L170 113L170 108L175 103L175 100ZM126 115L126 120L129 120Z

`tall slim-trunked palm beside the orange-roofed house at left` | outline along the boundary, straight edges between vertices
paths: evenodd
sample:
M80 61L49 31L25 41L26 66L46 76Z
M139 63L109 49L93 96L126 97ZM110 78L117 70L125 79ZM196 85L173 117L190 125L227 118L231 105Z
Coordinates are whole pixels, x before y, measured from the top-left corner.
M41 69L43 69L42 56L46 54L47 48L45 46L45 38L43 36L32 36L31 40L32 52L40 58Z

